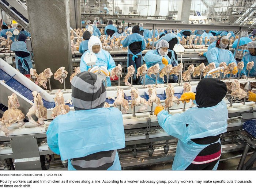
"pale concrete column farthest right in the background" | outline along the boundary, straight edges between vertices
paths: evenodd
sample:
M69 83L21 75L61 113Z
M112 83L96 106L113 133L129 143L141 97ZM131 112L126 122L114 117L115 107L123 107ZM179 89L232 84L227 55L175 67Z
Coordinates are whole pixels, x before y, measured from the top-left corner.
M187 24L189 21L190 8L191 0L178 1L177 20L181 20L181 22L185 22Z

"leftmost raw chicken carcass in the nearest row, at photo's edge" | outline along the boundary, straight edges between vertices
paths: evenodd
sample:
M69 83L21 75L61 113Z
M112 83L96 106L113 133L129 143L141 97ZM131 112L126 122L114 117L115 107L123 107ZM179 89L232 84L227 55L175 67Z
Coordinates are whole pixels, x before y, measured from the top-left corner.
M25 115L22 113L17 95L12 93L11 96L8 96L8 109L3 113L3 117L0 119L0 130L8 136L10 127L13 123L18 122L18 127L23 128Z

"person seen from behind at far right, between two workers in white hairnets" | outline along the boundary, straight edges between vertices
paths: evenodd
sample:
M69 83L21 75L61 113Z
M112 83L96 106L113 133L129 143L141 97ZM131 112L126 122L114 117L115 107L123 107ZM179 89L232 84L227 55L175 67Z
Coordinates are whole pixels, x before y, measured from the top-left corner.
M251 41L252 41L252 39L248 37L248 32L247 31L242 31L241 32L241 38L240 38L240 41L239 41L239 45L237 44L238 39L236 39L234 41L234 43L232 45L232 48L235 49L233 55L234 55L234 57L236 57L237 63L241 62L243 55L249 52L248 49L247 49L247 44ZM238 45L238 49L237 49L237 55L236 55L237 45Z

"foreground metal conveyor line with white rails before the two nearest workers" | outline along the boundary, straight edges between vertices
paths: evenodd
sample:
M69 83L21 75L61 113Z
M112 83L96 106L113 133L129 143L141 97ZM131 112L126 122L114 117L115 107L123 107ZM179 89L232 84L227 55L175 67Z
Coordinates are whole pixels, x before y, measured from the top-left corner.
M12 66L10 66L3 59L0 59L0 87L1 87L1 114L7 109L7 96L12 93L16 93L20 109L26 115L28 109L31 107L31 100L33 97L31 92L37 91L40 93L44 106L47 108L47 119L45 120L44 127L35 127L31 123L25 123L25 128L18 128L16 124L9 127L9 136L5 136L4 132L0 132L0 155L1 159L5 159L5 170L53 170L62 169L67 167L67 161L62 161L58 156L48 148L46 131L52 120L50 116L54 107L54 97L57 90L43 90L39 86L35 85L33 81L29 80ZM227 86L235 78L231 80L222 80L227 82ZM4 80L4 81L3 81ZM199 80L191 80L192 91L195 92L196 85ZM255 82L254 78L249 78L248 81ZM246 83L245 79L240 79L240 83ZM172 84L174 86L175 95L180 97L182 94L183 86L178 84ZM125 98L131 99L131 87L120 86L124 89ZM138 89L139 95L145 99L148 99L148 88L142 85L135 85ZM255 83L254 83L255 87ZM252 85L253 88L253 85ZM165 105L165 90L166 84L158 84L156 87L157 96L160 98L162 105ZM65 100L71 99L71 89L63 91ZM107 97L117 96L117 87L112 86L107 88ZM256 105L254 102L246 101L243 105L243 101L233 101L232 107L230 107L231 95L230 91L223 99L228 108L228 126L227 132L222 134L222 153L228 151L236 151L244 148L244 140L237 137L236 131L242 129L242 121L245 121L248 116L244 116L246 113L253 113L256 111ZM106 99L106 102L113 106L113 100ZM130 105L131 103L129 103ZM71 104L71 111L74 108ZM123 115L124 131L125 131L125 148L118 150L121 167L123 169L133 166L144 166L155 163L170 162L173 160L177 139L173 136L169 136L158 124L157 117L153 115L152 107L148 107L144 112L137 113L139 107L135 109L129 108L127 114ZM191 108L191 103L174 104L169 109L171 114L182 113L184 108ZM119 107L117 107L119 108ZM182 111L183 110L183 111ZM27 119L27 117L25 117ZM12 162L11 158L14 158ZM14 163L14 165L13 165ZM15 166L15 168L14 168Z

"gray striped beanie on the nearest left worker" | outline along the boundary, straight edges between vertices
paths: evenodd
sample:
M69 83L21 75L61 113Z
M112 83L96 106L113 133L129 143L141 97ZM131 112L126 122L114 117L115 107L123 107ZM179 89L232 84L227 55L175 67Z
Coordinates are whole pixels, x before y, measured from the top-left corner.
M75 110L103 108L106 88L96 74L81 72L71 82L72 102Z

